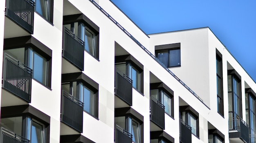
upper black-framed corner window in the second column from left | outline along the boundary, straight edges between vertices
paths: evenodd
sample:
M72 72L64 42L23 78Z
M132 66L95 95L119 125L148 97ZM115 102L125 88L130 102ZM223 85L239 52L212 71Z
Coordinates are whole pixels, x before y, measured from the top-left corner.
M77 18L79 17L79 18ZM76 19L74 19L76 18ZM66 22L77 21L77 22ZM99 27L83 14L63 17L63 26L85 42L85 51L99 59Z

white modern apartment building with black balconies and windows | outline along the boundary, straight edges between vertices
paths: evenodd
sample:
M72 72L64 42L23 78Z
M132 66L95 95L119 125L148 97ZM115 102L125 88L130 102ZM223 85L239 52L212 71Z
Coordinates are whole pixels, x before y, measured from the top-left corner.
M110 0L0 2L0 143L254 143L256 83L208 27Z

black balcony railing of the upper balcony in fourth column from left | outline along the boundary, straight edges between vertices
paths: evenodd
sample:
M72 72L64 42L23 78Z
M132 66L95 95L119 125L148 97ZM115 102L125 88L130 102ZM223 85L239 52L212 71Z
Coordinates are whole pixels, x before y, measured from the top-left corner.
M164 130L164 105L154 97L151 97L150 119Z

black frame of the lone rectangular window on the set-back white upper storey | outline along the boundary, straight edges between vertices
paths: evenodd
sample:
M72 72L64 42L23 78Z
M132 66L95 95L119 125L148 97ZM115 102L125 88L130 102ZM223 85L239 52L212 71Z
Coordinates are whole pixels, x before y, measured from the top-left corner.
M174 66L170 65L170 59L169 59L169 55L170 55L170 51L172 50L180 50L180 43L174 43L174 44L165 44L165 45L157 45L155 46L155 57L158 57L158 53L159 52L168 52L168 65L165 65L167 68L173 68L173 67L180 67L181 66L181 50L180 50L180 64L176 64ZM162 62L162 61L160 61Z

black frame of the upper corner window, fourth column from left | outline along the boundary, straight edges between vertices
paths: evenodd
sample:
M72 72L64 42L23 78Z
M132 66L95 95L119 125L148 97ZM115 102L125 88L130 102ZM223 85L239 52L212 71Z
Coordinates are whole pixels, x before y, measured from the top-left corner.
M161 91L166 93L166 95L168 95L171 98L171 114L168 114L166 112L165 113L174 119L174 92L173 92L173 90L171 90L171 88L166 86L166 84L164 84L163 82L151 83L150 90L158 90L159 98L161 98ZM160 102L162 101L162 99L157 99L157 100ZM162 104L164 105L164 103L162 103Z

